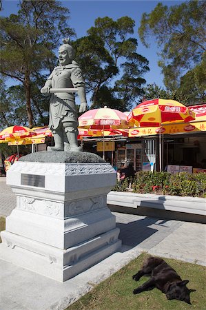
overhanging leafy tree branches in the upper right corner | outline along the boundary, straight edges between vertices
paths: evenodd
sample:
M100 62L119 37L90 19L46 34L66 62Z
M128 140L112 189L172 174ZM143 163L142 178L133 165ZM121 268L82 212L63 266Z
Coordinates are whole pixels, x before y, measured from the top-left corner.
M156 38L161 48L159 65L169 89L176 90L185 72L202 63L206 50L205 23L205 1L189 1L169 8L158 3L150 14L143 14L138 34L147 47L148 38ZM206 81L203 84L205 87Z

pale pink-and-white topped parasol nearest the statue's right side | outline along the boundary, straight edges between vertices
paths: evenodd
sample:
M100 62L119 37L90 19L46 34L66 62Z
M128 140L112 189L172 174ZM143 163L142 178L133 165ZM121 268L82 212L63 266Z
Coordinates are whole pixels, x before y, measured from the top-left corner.
M110 130L128 128L127 115L119 110L103 107L93 109L79 116L79 127Z

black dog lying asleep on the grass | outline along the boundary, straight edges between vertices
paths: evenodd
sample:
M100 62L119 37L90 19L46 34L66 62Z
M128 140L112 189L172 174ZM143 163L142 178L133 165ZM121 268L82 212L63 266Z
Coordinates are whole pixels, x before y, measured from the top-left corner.
M151 276L150 280L141 287L134 289L133 293L138 294L142 291L150 291L156 287L166 294L167 299L177 299L191 304L189 293L195 289L187 289L188 280L182 280L172 267L167 265L165 260L157 257L149 257L143 264L138 273L132 277L138 281L142 276Z

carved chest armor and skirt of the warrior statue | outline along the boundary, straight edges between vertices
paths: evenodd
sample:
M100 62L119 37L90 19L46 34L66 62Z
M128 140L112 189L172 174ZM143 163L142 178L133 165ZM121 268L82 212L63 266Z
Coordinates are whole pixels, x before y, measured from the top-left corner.
M81 69L76 62L54 68L50 74L52 88L74 88L85 85ZM54 93L50 99L49 128L55 131L61 122L70 122L69 131L77 130L77 112L73 93Z

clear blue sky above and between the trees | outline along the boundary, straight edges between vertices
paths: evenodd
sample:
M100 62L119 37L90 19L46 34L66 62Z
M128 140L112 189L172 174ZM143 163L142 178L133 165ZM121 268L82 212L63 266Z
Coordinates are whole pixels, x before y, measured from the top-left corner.
M155 40L151 40L150 48L145 48L138 38L138 26L140 25L143 12L150 13L158 2L162 2L166 6L174 6L182 1L61 1L63 6L70 9L70 27L74 28L78 38L87 34L87 30L94 25L94 20L97 17L107 16L116 20L120 17L128 16L134 19L136 23L134 36L138 40L137 52L150 61L150 72L145 74L144 77L147 83L156 83L159 86L163 86L163 75L158 67L158 48ZM12 13L16 13L18 3L19 1L3 0L3 12L1 12L1 15L9 16Z

